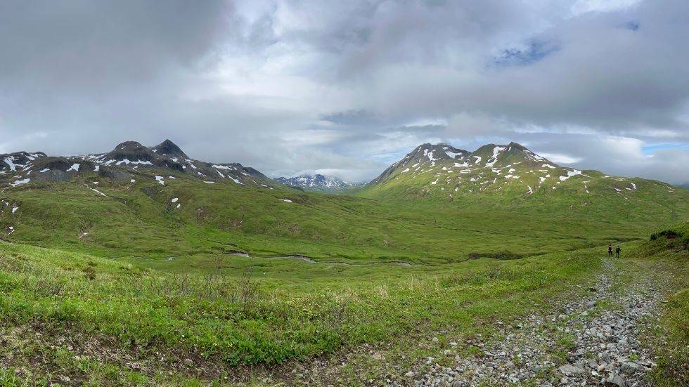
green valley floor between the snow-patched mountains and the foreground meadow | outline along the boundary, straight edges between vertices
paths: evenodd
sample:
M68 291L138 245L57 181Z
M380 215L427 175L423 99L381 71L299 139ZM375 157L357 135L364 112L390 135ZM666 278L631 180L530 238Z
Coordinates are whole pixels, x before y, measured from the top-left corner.
M627 218L628 212L612 205L605 217L569 209L545 214L536 202L518 210L482 203L446 206L432 199L399 206L181 176L167 179L166 186L150 181L96 186L87 178L8 188L0 196L8 203L0 212L0 230L16 242L177 268L202 265L232 250L349 262L440 263L499 251L528 256L633 240L673 218L661 210ZM172 203L174 197L179 201ZM635 204L650 202L652 197L645 197ZM14 204L19 209L13 214ZM683 210L674 214L683 215ZM10 226L15 232L8 235ZM167 261L170 256L176 261Z

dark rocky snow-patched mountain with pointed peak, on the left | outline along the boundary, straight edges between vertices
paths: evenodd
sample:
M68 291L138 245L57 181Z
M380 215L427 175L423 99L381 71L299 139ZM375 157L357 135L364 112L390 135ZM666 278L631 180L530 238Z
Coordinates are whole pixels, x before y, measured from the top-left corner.
M176 175L267 189L273 185L273 181L263 173L241 164L212 164L190 159L170 140L154 147L126 141L110 152L83 157L49 157L43 152L0 155L0 186L66 182L77 176L90 181L104 179L115 183L148 179L165 185L165 180L179 177Z

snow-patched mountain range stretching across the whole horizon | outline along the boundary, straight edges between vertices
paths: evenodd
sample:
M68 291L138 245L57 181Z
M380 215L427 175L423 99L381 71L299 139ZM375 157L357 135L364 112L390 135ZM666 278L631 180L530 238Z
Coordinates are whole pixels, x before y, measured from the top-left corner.
M512 202L557 196L588 202L588 198L598 195L629 200L638 197L639 191L646 187L660 189L667 195L683 193L681 188L658 181L619 178L599 171L559 166L517 143L488 144L474 152L447 144L426 143L366 185L321 174L271 180L256 169L238 163L213 164L191 159L170 140L153 147L127 141L110 152L79 157L51 157L44 152L0 155L0 185L11 187L66 182L77 176L105 178L113 183L144 179L165 185L166 180L176 178L170 173L208 183L226 181L266 189L275 188L276 183L321 191L364 187L359 195L394 200L434 197L471 201L468 198L498 199L506 193Z

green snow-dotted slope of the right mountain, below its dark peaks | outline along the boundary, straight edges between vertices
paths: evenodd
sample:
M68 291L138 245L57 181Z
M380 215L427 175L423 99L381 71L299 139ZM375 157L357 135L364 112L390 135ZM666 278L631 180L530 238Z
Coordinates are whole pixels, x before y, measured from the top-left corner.
M643 178L606 176L598 171L581 171L581 175L567 177L572 169L542 167L541 162L520 160L520 164L505 166L510 159L501 159L495 167L457 166L454 160L436 160L432 164L413 164L418 167L408 169L409 164L416 163L411 160L385 181L368 185L356 195L420 208L489 208L585 217L619 225L645 223L648 232L659 225L689 218L689 190ZM562 181L560 177L566 178ZM541 182L541 178L545 180Z

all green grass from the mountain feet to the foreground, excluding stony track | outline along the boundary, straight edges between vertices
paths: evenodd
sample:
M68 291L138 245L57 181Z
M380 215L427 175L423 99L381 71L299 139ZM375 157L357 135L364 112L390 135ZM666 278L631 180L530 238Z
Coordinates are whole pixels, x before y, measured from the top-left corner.
M572 207L581 199L572 193L577 178L547 196L523 199L521 189L506 188L495 199L461 202L183 176L165 186L100 181L106 197L84 187L89 178L8 188L0 232L15 243L0 243L0 340L13 344L0 346L0 386L70 383L65 377L91 385L261 384L247 367L291 371L316 357L340 364L342 353L349 366L319 382L359 384L391 365L437 356L433 336L441 346L465 343L493 334L496 320L550 308L548 300L595 278L600 246L610 242L633 242L623 257L638 273L686 270L687 226L659 232L689 216L684 192L655 203L667 188L634 180L630 199L593 195ZM610 188L596 178L591 190ZM652 232L655 240L641 243ZM318 263L274 259L291 255ZM397 261L418 266L389 264ZM676 364L687 359L686 287L671 284L668 330L653 341L659 347L667 336L673 348L660 355L659 385L685 380Z

